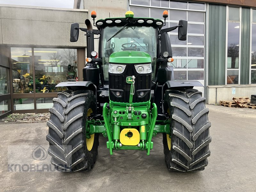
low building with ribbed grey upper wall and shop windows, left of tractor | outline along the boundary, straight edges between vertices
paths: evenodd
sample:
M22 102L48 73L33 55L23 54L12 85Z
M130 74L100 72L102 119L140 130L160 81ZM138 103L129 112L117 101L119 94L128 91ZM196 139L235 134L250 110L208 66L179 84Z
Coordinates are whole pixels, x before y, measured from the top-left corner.
M0 117L43 113L65 87L83 80L85 38L71 43L70 25L85 27L88 10L0 5Z

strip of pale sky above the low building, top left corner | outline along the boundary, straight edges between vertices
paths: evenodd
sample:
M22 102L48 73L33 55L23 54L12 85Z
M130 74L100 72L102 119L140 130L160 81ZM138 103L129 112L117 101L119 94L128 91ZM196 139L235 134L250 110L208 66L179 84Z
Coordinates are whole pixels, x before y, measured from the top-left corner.
M74 0L0 0L0 4L31 5L71 9L74 8Z

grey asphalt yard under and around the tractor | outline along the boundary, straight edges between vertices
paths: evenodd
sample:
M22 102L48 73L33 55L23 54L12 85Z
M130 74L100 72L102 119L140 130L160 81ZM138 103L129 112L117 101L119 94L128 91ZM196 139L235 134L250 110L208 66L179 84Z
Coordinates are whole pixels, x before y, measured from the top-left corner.
M57 172L47 167L43 172L25 166L14 171L15 161L29 162L27 156L34 151L28 148L47 147L48 127L45 122L0 124L0 191L256 191L256 109L207 107L211 156L200 172L168 171L162 134L153 138L150 156L129 150L110 156L107 138L100 136L97 161L89 172ZM49 158L45 159L48 164Z

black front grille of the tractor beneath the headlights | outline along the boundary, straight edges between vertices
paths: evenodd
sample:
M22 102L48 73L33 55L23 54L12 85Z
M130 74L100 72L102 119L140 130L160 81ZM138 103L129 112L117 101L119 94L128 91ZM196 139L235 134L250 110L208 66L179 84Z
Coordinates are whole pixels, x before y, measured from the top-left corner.
M135 76L135 93L133 95L133 103L145 102L150 99L151 90L151 74L138 74L133 64L126 64L124 72L120 74L108 73L109 98L116 102L129 102L131 84L126 83L127 76ZM113 90L114 91L111 91ZM115 96L116 90L123 90L119 97ZM145 96L140 97L137 90L145 90Z

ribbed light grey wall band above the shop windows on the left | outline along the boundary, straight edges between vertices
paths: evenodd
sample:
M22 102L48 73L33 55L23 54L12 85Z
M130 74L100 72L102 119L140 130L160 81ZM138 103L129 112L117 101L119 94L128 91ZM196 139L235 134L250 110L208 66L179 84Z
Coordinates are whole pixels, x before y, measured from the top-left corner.
M85 27L87 10L0 4L0 44L85 47L69 41L71 23Z

